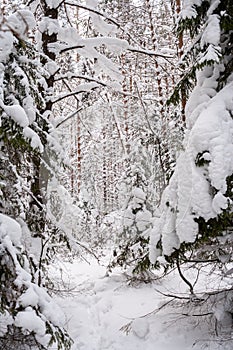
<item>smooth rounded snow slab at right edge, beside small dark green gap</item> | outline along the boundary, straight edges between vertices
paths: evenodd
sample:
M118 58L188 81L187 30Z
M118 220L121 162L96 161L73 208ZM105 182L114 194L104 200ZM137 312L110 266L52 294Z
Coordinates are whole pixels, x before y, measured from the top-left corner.
M223 194L227 189L226 178L233 172L233 121L229 112L233 110L232 89L233 83L229 83L210 100L190 135L194 157L209 151L209 178L212 186Z

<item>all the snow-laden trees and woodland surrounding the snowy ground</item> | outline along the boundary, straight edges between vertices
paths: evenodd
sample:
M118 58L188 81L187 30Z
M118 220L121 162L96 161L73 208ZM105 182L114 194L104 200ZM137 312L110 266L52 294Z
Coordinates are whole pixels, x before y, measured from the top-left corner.
M131 281L175 269L232 337L232 16L231 0L3 1L3 349L69 349L49 266L106 249ZM196 293L187 266L223 285Z

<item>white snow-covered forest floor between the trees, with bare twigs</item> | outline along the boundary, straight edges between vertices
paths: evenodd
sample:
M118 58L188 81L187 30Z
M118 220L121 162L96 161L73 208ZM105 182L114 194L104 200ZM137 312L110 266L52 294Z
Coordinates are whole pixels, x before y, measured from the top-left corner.
M213 317L197 316L195 302L161 294L188 296L188 286L176 273L152 283L129 283L119 269L106 276L109 255L100 264L87 260L59 260L51 267L72 350L232 350L232 332L221 330L217 336ZM191 270L185 274L196 278ZM211 280L219 283L215 277L202 271L196 287L203 291Z

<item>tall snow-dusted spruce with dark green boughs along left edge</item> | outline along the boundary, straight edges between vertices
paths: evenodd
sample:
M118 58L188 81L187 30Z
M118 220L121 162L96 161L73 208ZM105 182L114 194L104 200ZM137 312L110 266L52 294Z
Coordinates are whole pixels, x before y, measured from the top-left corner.
M0 18L0 347L69 349L64 316L44 288L52 231L38 188L47 144L45 70L28 41L32 13ZM52 141L52 137L50 137Z

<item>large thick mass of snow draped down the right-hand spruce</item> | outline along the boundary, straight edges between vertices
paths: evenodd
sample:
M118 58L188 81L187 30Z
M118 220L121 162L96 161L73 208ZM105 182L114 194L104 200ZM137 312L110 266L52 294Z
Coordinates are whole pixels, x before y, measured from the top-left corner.
M161 214L154 223L158 228L150 233L153 263L158 258L159 239L162 254L170 255L182 242L195 241L195 219L208 221L229 205L225 193L227 178L233 173L233 82L216 92L221 70L222 66L216 65L197 73L197 86L186 107L191 131L186 134L185 150L162 196ZM200 160L203 164L198 163Z

